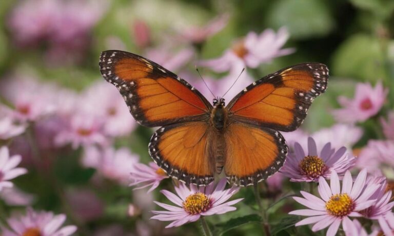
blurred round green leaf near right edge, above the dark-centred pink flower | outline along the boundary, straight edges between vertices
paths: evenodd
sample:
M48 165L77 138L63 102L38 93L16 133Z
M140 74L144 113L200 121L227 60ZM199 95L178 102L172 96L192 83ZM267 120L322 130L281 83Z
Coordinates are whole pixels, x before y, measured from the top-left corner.
M365 34L345 40L332 58L332 74L362 81L385 78L384 56L379 39Z

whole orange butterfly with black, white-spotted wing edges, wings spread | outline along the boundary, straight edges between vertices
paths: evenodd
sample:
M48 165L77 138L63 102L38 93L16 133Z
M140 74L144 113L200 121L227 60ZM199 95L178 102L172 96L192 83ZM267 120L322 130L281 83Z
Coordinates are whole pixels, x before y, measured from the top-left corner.
M137 123L161 126L149 142L153 161L172 178L200 186L223 169L240 186L278 171L288 152L279 131L302 124L328 80L325 65L303 63L264 76L226 105L223 98L209 103L187 81L139 55L104 51L99 65Z

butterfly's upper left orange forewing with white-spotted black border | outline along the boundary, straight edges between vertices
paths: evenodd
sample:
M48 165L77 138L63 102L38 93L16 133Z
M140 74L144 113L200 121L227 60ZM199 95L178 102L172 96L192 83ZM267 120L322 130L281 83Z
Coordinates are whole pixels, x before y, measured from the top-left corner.
M103 77L123 95L134 119L148 127L209 117L211 104L188 82L139 55L105 51Z

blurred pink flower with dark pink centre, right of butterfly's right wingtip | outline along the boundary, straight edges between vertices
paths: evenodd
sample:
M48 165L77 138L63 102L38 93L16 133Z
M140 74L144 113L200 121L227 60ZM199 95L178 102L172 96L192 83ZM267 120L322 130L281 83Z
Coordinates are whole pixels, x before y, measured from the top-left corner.
M378 82L375 88L372 88L370 83L358 83L354 98L340 96L338 102L343 108L332 111L332 114L340 122L365 121L378 114L387 93L388 90L383 88L382 82Z

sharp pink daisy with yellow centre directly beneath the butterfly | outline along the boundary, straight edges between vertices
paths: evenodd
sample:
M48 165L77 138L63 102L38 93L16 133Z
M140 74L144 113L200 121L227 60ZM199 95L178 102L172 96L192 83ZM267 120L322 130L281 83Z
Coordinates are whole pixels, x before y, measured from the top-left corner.
M162 194L166 196L176 206L154 202L166 210L154 210L156 216L151 219L160 221L172 221L166 228L178 227L187 222L194 222L202 216L210 216L212 214L223 214L228 211L236 210L235 203L240 202L243 198L226 202L232 195L234 195L239 187L231 187L224 190L226 186L226 179L219 181L216 188L213 182L208 186L197 187L190 184L190 189L183 183L179 187L175 186L175 191L178 196L167 190L161 190Z

